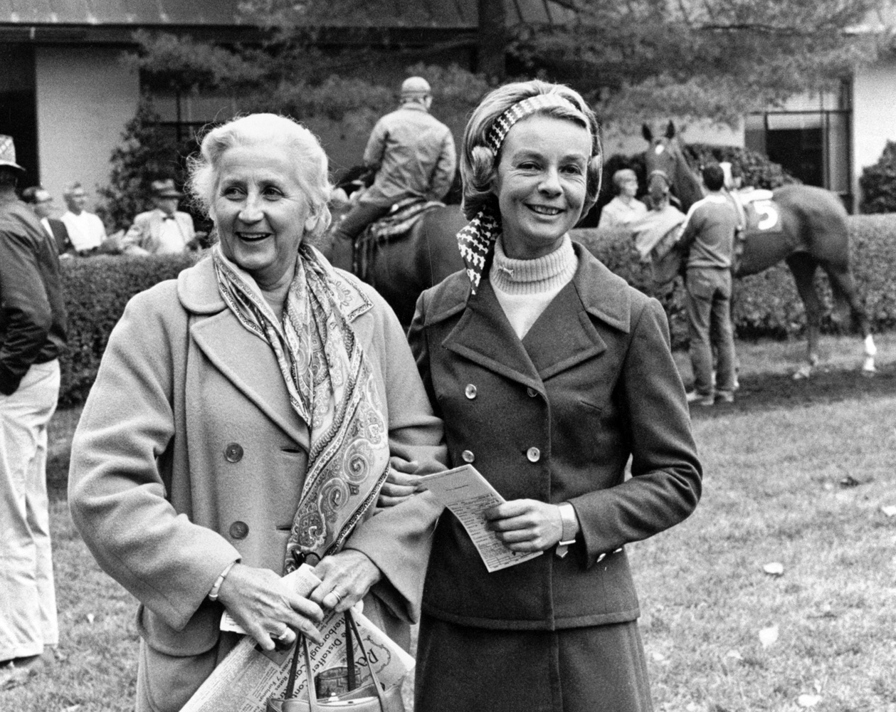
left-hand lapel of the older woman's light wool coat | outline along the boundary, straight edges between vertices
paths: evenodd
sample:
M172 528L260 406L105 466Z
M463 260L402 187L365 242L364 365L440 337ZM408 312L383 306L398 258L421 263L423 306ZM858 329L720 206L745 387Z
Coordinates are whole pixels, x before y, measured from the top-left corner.
M271 346L251 334L225 310L196 322L190 333L220 372L270 419L306 449L305 421L289 403Z

